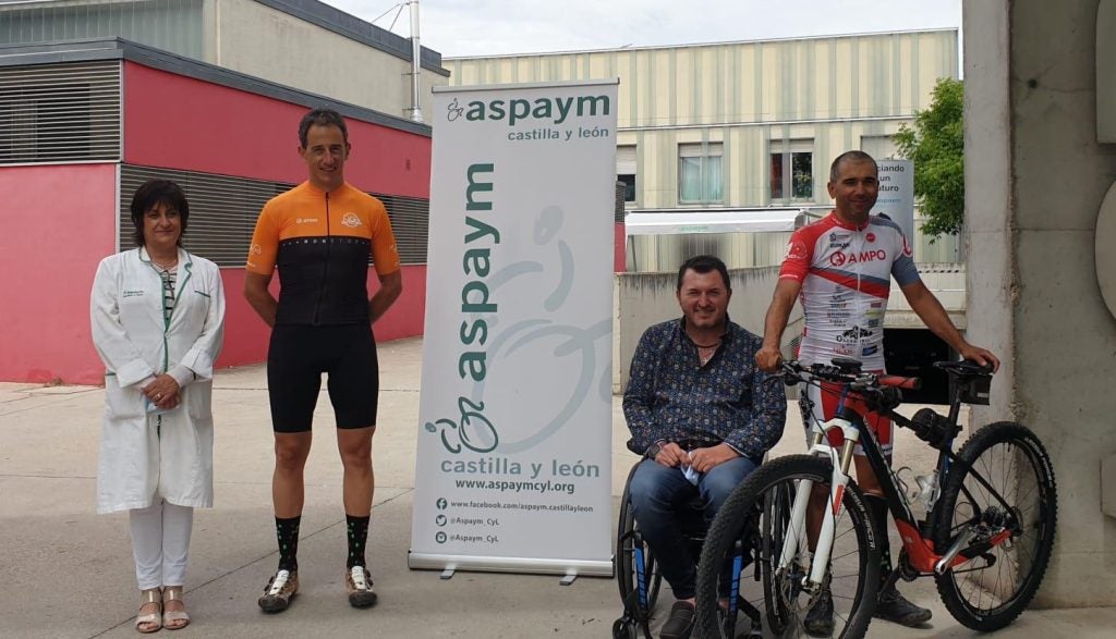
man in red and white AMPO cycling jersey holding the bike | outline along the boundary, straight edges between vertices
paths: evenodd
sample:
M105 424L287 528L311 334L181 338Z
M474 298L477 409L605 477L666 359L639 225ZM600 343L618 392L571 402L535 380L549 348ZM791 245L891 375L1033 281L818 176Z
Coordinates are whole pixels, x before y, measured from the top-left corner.
M778 369L779 343L795 299L800 298L806 316L799 350L802 364L829 364L835 357L845 357L859 360L865 370L882 372L884 312L891 278L895 278L911 309L934 335L963 358L999 368L994 355L961 337L941 302L922 282L899 226L885 216L869 215L879 190L876 161L862 151L837 156L829 170L827 187L836 201L834 211L796 231L787 246L764 321L763 346L756 354L759 367L767 371ZM814 387L802 394L804 420L810 414L820 420L833 417L837 401L828 395ZM858 413L865 415L865 423L876 434L891 463L891 422L865 414L863 408ZM830 442L839 444L833 438ZM878 530L886 531L887 502L864 452L857 447L856 454L857 483ZM824 502L825 496L819 496ZM891 553L886 535L882 538L881 574L886 580L892 572ZM930 620L931 611L907 601L893 585L879 592L875 616L917 626ZM828 636L833 631L833 600L828 592L818 598L804 626L811 635Z

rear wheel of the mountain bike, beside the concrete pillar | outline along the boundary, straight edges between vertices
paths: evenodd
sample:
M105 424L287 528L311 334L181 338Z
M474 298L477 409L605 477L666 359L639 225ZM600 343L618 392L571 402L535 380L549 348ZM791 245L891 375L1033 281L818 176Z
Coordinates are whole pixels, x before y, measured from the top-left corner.
M984 506L999 507L988 488L977 483L973 472L992 483L992 488L1004 497L1012 516L1020 520L1022 534L1013 535L1010 546L998 545L937 575L937 592L950 614L965 627L982 632L999 630L1031 602L1050 563L1058 521L1054 466L1039 438L1013 422L998 422L979 429L961 447L958 459L961 463L951 466L935 507L934 548L944 552L952 544L960 526L975 517L982 498L989 501ZM1001 491L994 484L999 480L1014 484L1014 488L1004 486ZM988 556L994 558L994 563L989 564ZM979 562L985 568L979 568ZM1018 578L1013 587L1003 579L1006 568L1008 578L1011 572ZM997 569L994 581L991 573L985 573L993 569ZM966 597L964 590L969 585L972 591ZM985 593L989 608L982 606ZM972 594L978 596L975 603L970 600ZM993 606L997 600L999 603Z

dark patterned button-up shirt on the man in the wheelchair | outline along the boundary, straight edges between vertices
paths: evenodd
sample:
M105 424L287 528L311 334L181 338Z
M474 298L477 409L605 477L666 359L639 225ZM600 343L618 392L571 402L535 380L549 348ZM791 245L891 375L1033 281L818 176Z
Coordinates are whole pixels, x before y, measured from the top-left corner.
M643 333L624 394L628 448L644 454L656 442L689 448L725 443L757 462L782 436L787 394L782 379L756 366L759 337L729 322L713 357L702 366L684 318Z

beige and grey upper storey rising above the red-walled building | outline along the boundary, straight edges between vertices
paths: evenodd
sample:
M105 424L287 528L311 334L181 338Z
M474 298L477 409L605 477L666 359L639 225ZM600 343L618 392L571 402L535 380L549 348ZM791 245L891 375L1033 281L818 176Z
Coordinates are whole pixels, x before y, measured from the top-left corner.
M30 0L0 4L0 43L123 38L397 117L411 116L411 41L318 0ZM420 55L425 110L446 84Z

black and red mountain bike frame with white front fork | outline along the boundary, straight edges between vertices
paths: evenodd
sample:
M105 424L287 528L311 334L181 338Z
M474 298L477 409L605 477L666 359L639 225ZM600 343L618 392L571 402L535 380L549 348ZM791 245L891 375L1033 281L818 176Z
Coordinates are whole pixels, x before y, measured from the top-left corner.
M886 385L883 380L881 381L882 385ZM808 380L808 383L810 381ZM899 538L903 540L903 548L906 549L911 567L918 571L921 575L942 574L951 568L980 556L982 553L988 552L989 549L1000 545L1011 538L1011 532L1003 530L987 540L973 544L974 541L978 541L982 536L978 534L982 531L970 523L956 535L950 548L944 553L939 554L934 548L934 543L923 535L923 531L915 520L914 513L911 511L906 495L896 485L891 466L879 449L879 444L876 442L875 435L870 429L865 428L864 418L856 410L846 406L849 393L849 384L841 383L837 412L834 417L824 423L811 420L812 423L810 424L812 443L809 454L828 457L833 463L833 477L829 486L829 507L825 509L825 517L822 519L821 531L818 535L817 548L814 552L814 560L810 565L809 575L806 578L809 583L804 583L804 587L820 588L824 583L825 573L829 564L829 555L833 551L834 532L837 519L840 516L841 498L849 482L848 469L852 465L853 452L857 444L864 451L868 465L875 473L877 482L884 492L884 498L887 502L888 511L891 511L892 516L895 519L895 526L899 532ZM960 400L954 397L950 405L949 415L949 420L953 425L956 425L960 405ZM911 420L894 410L884 410L881 414L889 417L896 426L911 427ZM845 438L839 451L830 446L827 439L829 432L837 429L841 432ZM1006 509L1010 509L1003 496L993 490L984 477L956 458L952 447L953 442L951 440L939 454L939 482L944 482L945 475L949 472L969 472L978 483L989 491L989 494L993 495ZM788 525L787 536L785 538L782 552L779 558L778 568L780 570L787 569L795 560L796 549L793 540L804 539L806 535L806 512L809 507L812 488L814 481L811 480L802 480L799 484L791 510L791 521ZM968 491L965 492L968 493ZM934 512L931 509L931 512L926 513L927 524L925 532L927 534L931 534L933 530L934 520ZM791 536L790 533L792 532L797 536ZM886 534L886 531L879 532L881 534Z

